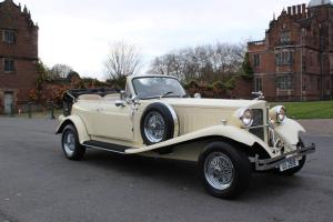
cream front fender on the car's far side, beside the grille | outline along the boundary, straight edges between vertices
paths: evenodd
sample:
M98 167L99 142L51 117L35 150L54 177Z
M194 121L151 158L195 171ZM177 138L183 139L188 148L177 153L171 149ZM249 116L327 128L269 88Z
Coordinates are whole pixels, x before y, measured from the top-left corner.
M299 143L300 132L305 132L304 128L292 119L285 119L282 123L274 128L281 139L290 145Z

